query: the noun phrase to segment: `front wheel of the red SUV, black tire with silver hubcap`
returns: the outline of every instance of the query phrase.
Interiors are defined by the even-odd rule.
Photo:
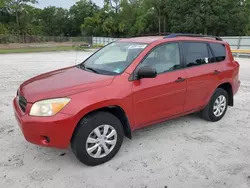
[[[107,126],[109,126],[109,129],[106,129]],[[104,138],[104,129],[107,130],[105,134],[107,137],[110,137],[110,135],[113,134],[114,136]],[[99,137],[94,130],[97,130],[96,132],[99,130],[99,133],[101,133],[99,134]],[[87,117],[84,117],[79,122],[71,139],[71,148],[79,161],[88,166],[96,166],[109,161],[117,154],[122,145],[123,137],[123,127],[120,120],[116,116],[104,111],[95,112]],[[107,144],[107,142],[111,143],[111,141],[113,145]],[[104,144],[106,147],[104,147]],[[91,148],[96,149],[92,151]],[[108,148],[110,153],[105,153],[105,151],[108,150],[104,150],[104,148]],[[88,153],[88,151],[92,152]]]

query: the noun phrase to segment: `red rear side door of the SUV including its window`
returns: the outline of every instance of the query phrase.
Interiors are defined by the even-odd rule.
[[[182,49],[187,75],[187,97],[184,111],[207,105],[220,82],[222,66],[215,63],[211,47],[206,42],[183,42]]]

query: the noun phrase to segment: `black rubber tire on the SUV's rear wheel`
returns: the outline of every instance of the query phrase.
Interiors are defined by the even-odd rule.
[[[221,96],[225,97],[225,108],[223,112],[219,111],[219,113],[215,115],[216,113],[214,112],[214,105],[217,104],[216,100]],[[228,107],[228,93],[222,88],[217,88],[212,98],[210,99],[209,104],[202,110],[201,115],[207,121],[216,122],[223,118],[223,116],[225,115],[227,111],[227,107]]]

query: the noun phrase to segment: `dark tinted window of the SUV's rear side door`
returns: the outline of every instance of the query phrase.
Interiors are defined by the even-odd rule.
[[[183,50],[187,67],[209,63],[210,55],[206,43],[185,42]]]

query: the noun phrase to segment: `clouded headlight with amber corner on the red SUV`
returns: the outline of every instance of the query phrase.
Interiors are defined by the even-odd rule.
[[[32,105],[31,116],[53,116],[60,112],[68,103],[69,98],[57,98],[38,101]]]

